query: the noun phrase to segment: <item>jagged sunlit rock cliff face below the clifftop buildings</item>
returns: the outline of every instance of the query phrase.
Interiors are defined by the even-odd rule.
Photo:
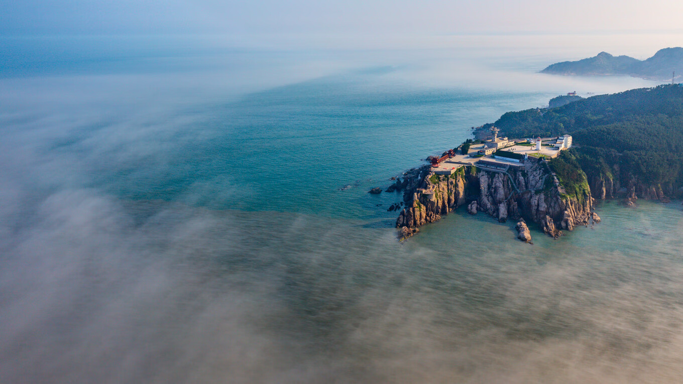
[[[561,230],[587,225],[592,215],[590,191],[567,195],[548,165],[533,158],[523,168],[510,167],[506,173],[471,166],[440,176],[427,167],[408,184],[415,188],[404,191],[406,206],[396,220],[397,228],[438,221],[441,215],[468,204],[471,213],[479,210],[501,222],[524,218],[557,237]]]

